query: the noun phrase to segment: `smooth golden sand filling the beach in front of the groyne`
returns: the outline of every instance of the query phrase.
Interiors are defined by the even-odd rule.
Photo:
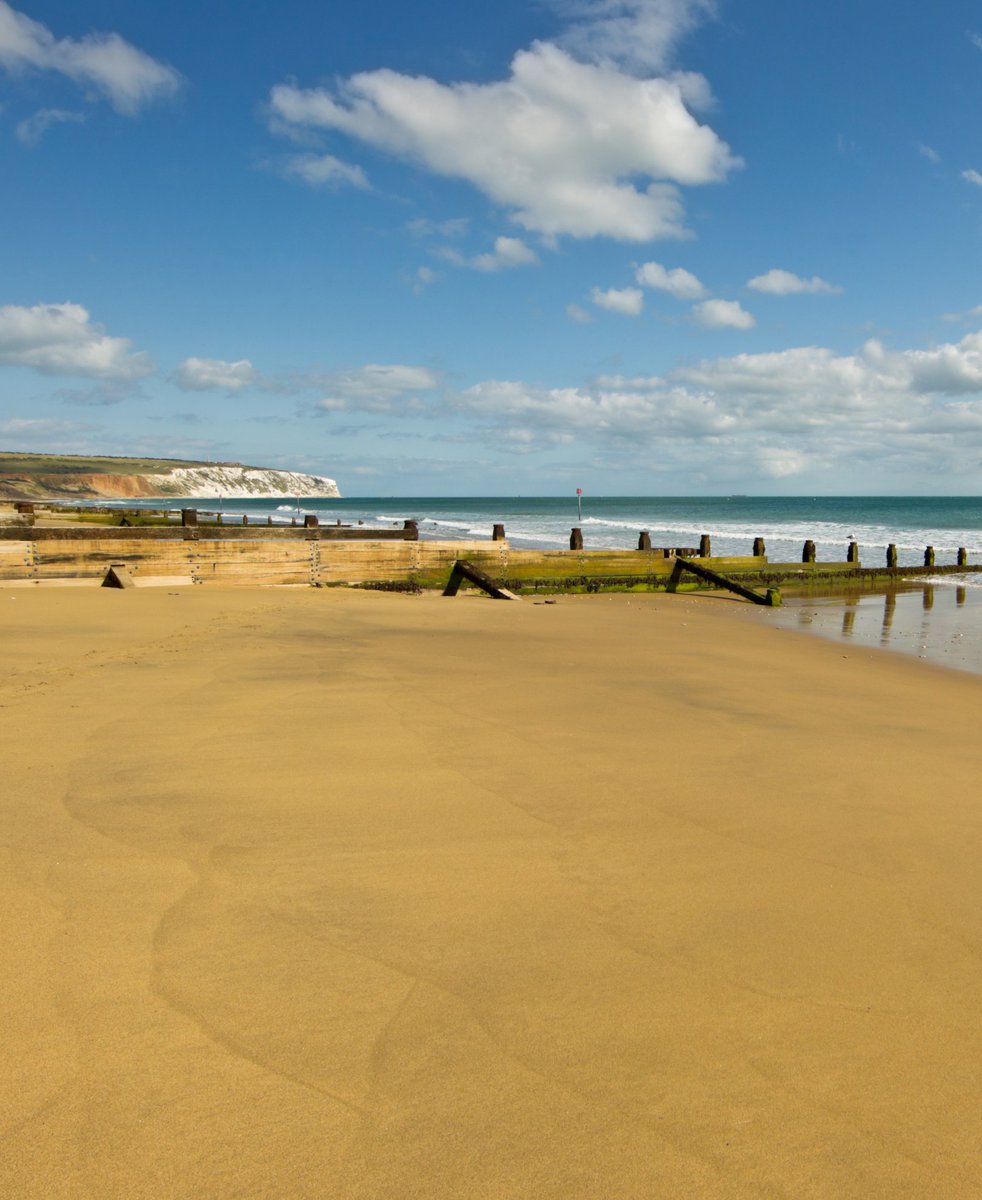
[[[682,595],[0,636],[0,1195],[982,1195],[982,679]]]

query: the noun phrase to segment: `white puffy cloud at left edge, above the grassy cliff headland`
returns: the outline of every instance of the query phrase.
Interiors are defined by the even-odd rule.
[[[132,353],[126,337],[109,337],[77,304],[0,307],[0,362],[31,367],[42,374],[134,380],[154,365]]]

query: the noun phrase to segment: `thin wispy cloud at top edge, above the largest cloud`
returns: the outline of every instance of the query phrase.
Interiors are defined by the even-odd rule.
[[[712,0],[559,0],[580,19],[561,38],[579,58],[661,71],[676,43],[715,11]]]

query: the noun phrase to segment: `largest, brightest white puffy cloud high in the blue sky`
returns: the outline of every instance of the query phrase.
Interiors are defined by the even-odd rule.
[[[687,108],[693,91],[691,77],[636,79],[537,42],[499,83],[370,71],[336,94],[280,84],[270,116],[274,130],[335,130],[467,180],[546,238],[647,241],[684,235],[678,185],[740,164]]]

